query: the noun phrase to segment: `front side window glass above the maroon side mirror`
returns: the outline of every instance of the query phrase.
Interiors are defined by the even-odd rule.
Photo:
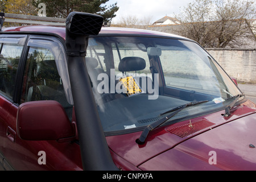
[[[21,103],[54,100],[59,102],[72,118],[73,105],[65,97],[63,80],[56,67],[56,56],[51,49],[30,47],[24,68]]]

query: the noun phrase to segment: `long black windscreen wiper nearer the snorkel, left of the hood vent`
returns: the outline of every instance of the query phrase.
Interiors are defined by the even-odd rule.
[[[164,115],[167,113],[171,113],[169,115],[167,115],[166,117],[159,119],[158,121],[148,125],[141,134],[141,137],[139,137],[136,142],[138,144],[143,144],[147,138],[147,135],[150,133],[150,131],[154,130],[156,127],[162,125],[164,122],[168,121],[170,118],[174,117],[177,113],[179,113],[181,110],[185,109],[188,106],[194,106],[194,105],[198,105],[204,102],[208,102],[208,101],[198,101],[198,102],[189,102],[187,104],[175,107],[174,109],[168,110],[164,113],[161,113],[160,115]],[[172,113],[173,112],[173,113]]]

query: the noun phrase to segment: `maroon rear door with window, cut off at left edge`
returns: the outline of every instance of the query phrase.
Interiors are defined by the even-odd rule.
[[[26,35],[0,35],[0,164],[5,169],[13,169],[5,154],[9,146],[15,145],[16,77],[26,38]]]

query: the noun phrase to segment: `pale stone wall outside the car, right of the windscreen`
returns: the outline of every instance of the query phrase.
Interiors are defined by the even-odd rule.
[[[229,76],[256,84],[256,49],[205,48]]]

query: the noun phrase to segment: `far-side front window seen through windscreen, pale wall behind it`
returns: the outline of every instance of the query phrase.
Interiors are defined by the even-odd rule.
[[[176,47],[159,46],[166,86],[191,89],[200,92],[219,92],[213,84],[214,72],[195,52]],[[209,61],[208,61],[209,62]]]

